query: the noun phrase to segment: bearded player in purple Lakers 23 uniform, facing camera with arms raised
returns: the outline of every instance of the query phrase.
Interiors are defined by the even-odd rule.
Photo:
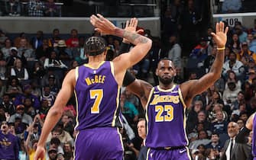
[[[170,59],[161,59],[158,62],[156,75],[159,85],[156,87],[135,80],[131,75],[125,75],[127,88],[141,99],[146,110],[148,159],[191,159],[186,147],[186,106],[190,106],[196,94],[206,91],[220,78],[224,62],[228,27],[224,28],[224,23],[220,22],[215,28],[216,32],[212,33],[212,37],[218,46],[218,53],[210,72],[202,78],[175,85],[173,78],[176,71]]]

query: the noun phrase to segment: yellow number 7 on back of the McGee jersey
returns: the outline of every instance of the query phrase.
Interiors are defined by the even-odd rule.
[[[95,99],[94,104],[91,107],[91,114],[99,114],[99,104],[102,102],[103,90],[93,89],[89,91],[90,98]]]

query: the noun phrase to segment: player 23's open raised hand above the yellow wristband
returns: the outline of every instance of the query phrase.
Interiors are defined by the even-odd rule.
[[[225,30],[224,30],[224,27],[225,25],[222,21],[219,23],[216,23],[216,27],[215,27],[216,33],[211,33],[212,38],[217,44],[218,48],[224,48],[225,43],[227,42],[228,27],[225,27]]]

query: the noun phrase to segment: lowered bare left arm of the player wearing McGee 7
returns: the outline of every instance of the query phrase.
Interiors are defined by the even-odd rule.
[[[75,83],[76,75],[75,70],[73,69],[68,72],[64,78],[62,88],[60,89],[53,106],[50,108],[47,114],[40,139],[37,143],[37,151],[34,155],[34,159],[44,159],[44,146],[47,136],[49,135],[50,131],[53,130],[53,127],[56,125],[57,121],[60,120],[60,117],[63,114],[63,108],[66,106],[67,101],[69,101],[71,95],[73,94]]]

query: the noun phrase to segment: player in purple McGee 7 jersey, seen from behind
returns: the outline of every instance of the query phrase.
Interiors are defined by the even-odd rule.
[[[34,159],[44,158],[47,136],[60,119],[63,107],[74,90],[78,114],[76,130],[79,131],[75,141],[74,159],[123,158],[122,137],[116,127],[119,120],[119,88],[126,69],[139,62],[151,49],[151,40],[115,27],[100,14],[92,15],[90,22],[102,34],[123,37],[135,46],[129,53],[108,62],[104,61],[105,41],[101,37],[90,37],[86,40],[85,50],[89,55],[89,63],[76,67],[64,78],[62,88],[44,122]]]

